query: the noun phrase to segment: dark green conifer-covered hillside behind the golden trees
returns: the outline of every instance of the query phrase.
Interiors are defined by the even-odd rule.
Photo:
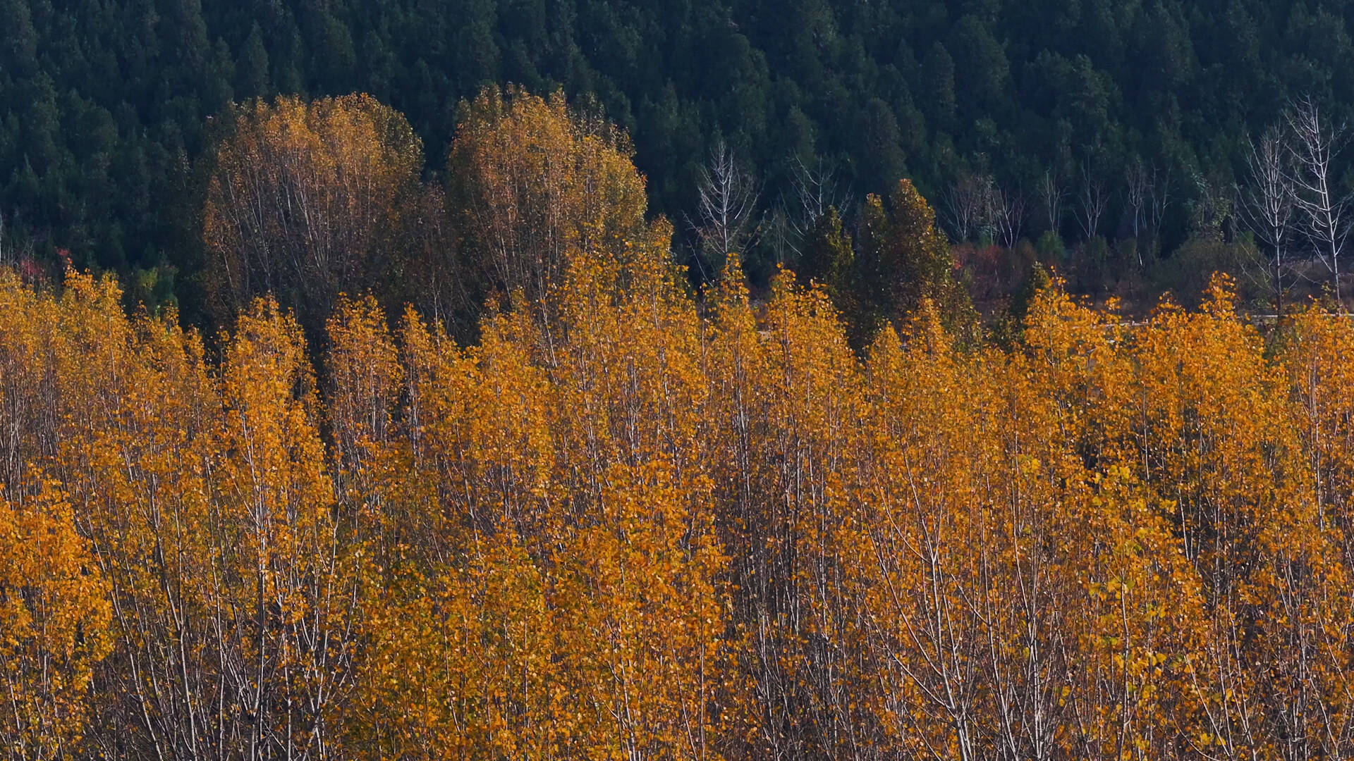
[[[1093,264],[1137,261],[1114,244],[1132,237],[1147,268],[1228,225],[1219,200],[1243,180],[1246,135],[1289,99],[1350,115],[1351,14],[1288,0],[0,0],[0,240],[118,269],[144,301],[179,292],[199,321],[200,199],[229,103],[367,92],[408,116],[421,171],[440,177],[463,99],[515,83],[590,99],[627,130],[684,251],[700,248],[685,222],[701,168],[727,145],[760,190],[758,283],[787,259],[791,221],[774,211],[798,203],[802,167],[834,175],[838,200],[910,176],[956,240],[1002,237],[961,209],[995,187],[1021,199],[1025,237],[1104,237]]]

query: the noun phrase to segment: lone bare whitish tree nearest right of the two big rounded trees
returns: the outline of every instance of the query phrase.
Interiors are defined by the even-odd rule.
[[[700,242],[705,261],[719,268],[730,253],[746,251],[757,233],[757,200],[761,188],[751,175],[738,165],[733,150],[723,141],[709,153],[709,162],[701,169],[696,219],[688,225]],[[697,264],[705,264],[697,257]],[[707,278],[715,272],[704,272]]]

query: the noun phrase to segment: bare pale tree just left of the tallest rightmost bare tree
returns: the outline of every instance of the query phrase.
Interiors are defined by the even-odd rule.
[[[1250,183],[1238,190],[1238,210],[1255,240],[1273,252],[1271,287],[1274,314],[1284,314],[1284,255],[1293,233],[1296,192],[1289,171],[1289,150],[1284,131],[1271,126],[1259,142],[1247,139],[1246,168]]]

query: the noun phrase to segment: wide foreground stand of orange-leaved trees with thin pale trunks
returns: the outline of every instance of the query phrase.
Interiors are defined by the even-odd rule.
[[[856,352],[788,272],[697,301],[642,194],[523,187],[551,161],[477,202],[474,345],[0,271],[7,757],[1354,753],[1349,320],[1055,282],[998,348],[933,286]]]

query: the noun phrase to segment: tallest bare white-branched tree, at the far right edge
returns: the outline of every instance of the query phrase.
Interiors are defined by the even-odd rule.
[[[1343,307],[1339,259],[1350,232],[1350,196],[1334,187],[1331,164],[1345,148],[1346,125],[1327,121],[1316,102],[1304,96],[1289,108],[1288,126],[1293,133],[1289,152],[1297,210],[1317,257],[1331,269],[1335,301]]]

